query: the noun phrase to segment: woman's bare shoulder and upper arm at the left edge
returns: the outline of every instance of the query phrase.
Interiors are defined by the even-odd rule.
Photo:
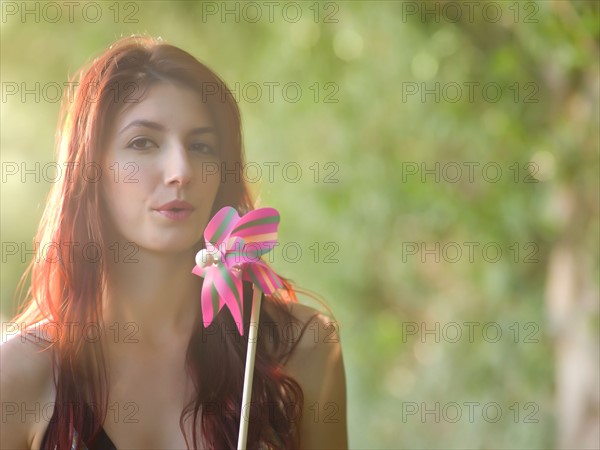
[[[0,345],[1,449],[32,448],[45,430],[42,411],[54,401],[51,358],[48,345],[33,336],[15,334]]]

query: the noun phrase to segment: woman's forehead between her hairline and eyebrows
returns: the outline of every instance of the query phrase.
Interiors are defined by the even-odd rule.
[[[145,92],[138,88],[131,99],[134,101],[117,113],[114,123],[118,129],[113,131],[118,132],[127,123],[138,119],[158,122],[174,130],[214,126],[210,110],[200,94],[187,87],[155,83]]]

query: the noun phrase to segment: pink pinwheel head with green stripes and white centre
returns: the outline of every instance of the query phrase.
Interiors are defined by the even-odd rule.
[[[205,327],[227,305],[240,335],[244,334],[242,280],[251,281],[265,294],[283,287],[277,274],[260,259],[277,244],[278,225],[279,213],[274,208],[255,209],[240,217],[226,206],[210,220],[204,230],[206,248],[198,252],[192,269],[204,278]]]

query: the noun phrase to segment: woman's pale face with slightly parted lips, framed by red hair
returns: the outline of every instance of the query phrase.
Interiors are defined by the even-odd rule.
[[[159,252],[197,244],[220,177],[215,124],[200,96],[152,85],[142,101],[116,116],[106,142],[102,195],[114,238]]]

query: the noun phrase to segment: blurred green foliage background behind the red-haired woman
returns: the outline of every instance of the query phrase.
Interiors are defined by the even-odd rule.
[[[493,2],[502,12],[497,22],[481,6],[473,20],[464,9],[453,20],[445,2],[426,2],[440,13],[423,20],[407,13],[407,3],[425,8],[303,2],[296,23],[284,20],[280,7],[272,21],[218,15],[203,21],[206,5],[177,1],[135,3],[137,23],[123,23],[123,15],[115,22],[114,2],[101,2],[96,23],[81,14],[72,23],[3,16],[2,82],[62,84],[116,38],[145,32],[189,51],[231,87],[258,83],[258,101],[248,101],[251,90],[240,100],[248,161],[264,169],[253,187],[262,205],[281,211],[281,242],[297,242],[303,251],[297,262],[291,250],[287,258],[276,252],[276,269],[321,294],[339,321],[351,447],[553,447],[555,363],[545,285],[557,241],[570,237],[587,250],[581,269],[595,274],[594,292],[598,287],[598,3]],[[128,2],[117,9],[133,11]],[[327,12],[335,22],[324,23]],[[270,102],[265,82],[299,83],[302,96],[285,101],[276,88]],[[469,82],[480,83],[472,101]],[[428,94],[422,101],[421,92],[406,95],[415,86],[407,83],[428,89],[456,83],[463,95],[449,100],[455,91],[448,87],[446,97]],[[501,87],[497,101],[482,94],[486,83]],[[493,89],[488,93],[495,97]],[[328,94],[337,102],[325,102]],[[1,106],[2,162],[52,161],[59,104],[17,95]],[[270,182],[265,162],[296,162],[302,176],[288,182],[276,170]],[[310,169],[315,162],[319,173]],[[423,182],[421,173],[407,173],[422,163],[448,167],[446,176],[436,182],[426,175]],[[448,163],[463,170],[457,182],[447,180],[455,173]],[[473,181],[465,163],[479,164]],[[497,182],[484,178],[487,163],[501,167]],[[327,174],[335,182],[325,182]],[[31,177],[2,183],[3,242],[29,245],[49,188]],[[565,190],[575,200],[565,200]],[[578,205],[578,227],[561,212],[564,202]],[[463,254],[449,262],[448,248],[437,262],[433,255],[409,255],[411,242],[426,249],[456,242]],[[473,262],[465,242],[479,243]],[[488,243],[502,249],[497,262],[481,253]],[[3,257],[4,319],[14,312],[24,268],[19,258]],[[597,308],[589,318],[597,336]],[[472,340],[465,322],[480,324]],[[482,335],[487,322],[502,330],[498,342],[486,339],[494,329]],[[439,342],[434,334],[408,333],[412,324],[435,330],[436,323]],[[443,330],[454,336],[451,323],[463,331],[455,343],[443,339]],[[536,342],[525,342],[529,333]],[[458,403],[462,417],[453,423],[443,415],[436,422],[434,414],[422,420],[421,410],[402,414],[410,405],[433,409],[436,402],[440,408]],[[466,402],[480,405],[473,420]],[[482,415],[491,402],[502,409],[496,422]],[[445,411],[454,417],[455,410]],[[536,422],[526,422],[532,412]]]

